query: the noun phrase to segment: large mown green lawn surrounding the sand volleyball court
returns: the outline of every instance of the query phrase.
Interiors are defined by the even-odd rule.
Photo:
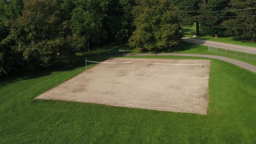
[[[1,80],[1,143],[256,143],[256,73],[211,59],[207,115],[34,99],[83,72],[83,65]]]

